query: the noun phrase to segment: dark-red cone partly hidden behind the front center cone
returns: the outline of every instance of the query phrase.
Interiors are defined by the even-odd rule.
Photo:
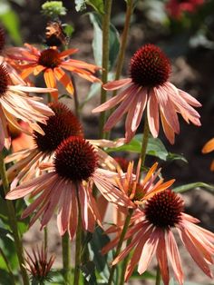
[[[34,141],[41,152],[50,154],[71,135],[83,136],[83,126],[73,112],[63,103],[49,103],[54,115],[46,124],[40,123],[44,135],[34,131]]]

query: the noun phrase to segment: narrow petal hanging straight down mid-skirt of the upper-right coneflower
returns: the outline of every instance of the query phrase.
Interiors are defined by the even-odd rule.
[[[147,118],[150,126],[151,134],[154,138],[159,135],[159,105],[154,94],[153,89],[149,95],[148,105],[147,105]]]

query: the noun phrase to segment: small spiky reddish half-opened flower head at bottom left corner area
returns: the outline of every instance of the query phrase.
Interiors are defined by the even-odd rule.
[[[55,260],[54,255],[52,255],[49,259],[47,257],[47,251],[44,250],[44,246],[39,249],[37,246],[32,250],[32,255],[29,252],[26,253],[26,269],[31,274],[31,279],[34,282],[39,282],[39,284],[45,284],[45,281],[51,281],[51,268],[53,266],[53,262]]]

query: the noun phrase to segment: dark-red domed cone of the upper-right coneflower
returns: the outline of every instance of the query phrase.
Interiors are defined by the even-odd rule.
[[[170,76],[170,60],[158,46],[146,44],[131,57],[130,74],[132,82],[142,87],[162,85]]]

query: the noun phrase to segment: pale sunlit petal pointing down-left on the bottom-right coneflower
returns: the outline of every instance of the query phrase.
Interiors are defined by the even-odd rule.
[[[147,270],[151,262],[151,258],[157,249],[159,236],[160,236],[159,231],[155,229],[151,233],[151,236],[145,242],[143,249],[141,251],[141,258],[139,260],[139,265],[138,265],[139,274],[142,274],[143,272],[145,272],[145,270]]]

